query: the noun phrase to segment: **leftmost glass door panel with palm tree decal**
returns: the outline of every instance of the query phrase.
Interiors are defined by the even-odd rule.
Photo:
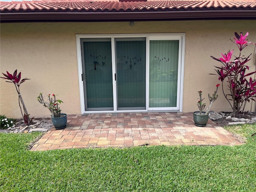
[[[113,109],[111,41],[98,39],[83,44],[87,109]]]

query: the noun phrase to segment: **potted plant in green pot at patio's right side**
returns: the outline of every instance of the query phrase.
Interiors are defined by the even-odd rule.
[[[203,110],[204,110],[206,104],[203,103],[204,98],[202,98],[202,91],[198,91],[199,101],[197,102],[197,106],[199,108],[199,111],[195,111],[194,116],[193,116],[196,126],[200,126],[200,127],[206,126],[206,123],[208,122],[208,118],[209,118],[210,108],[211,108],[213,102],[218,98],[217,91],[218,91],[219,86],[220,86],[220,84],[216,85],[216,90],[214,91],[214,94],[212,94],[212,96],[210,96],[210,94],[208,94],[208,98],[210,100],[210,105],[206,108],[205,112]]]

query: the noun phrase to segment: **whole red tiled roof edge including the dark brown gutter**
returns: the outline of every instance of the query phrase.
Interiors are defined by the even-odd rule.
[[[53,15],[53,13],[55,14]],[[126,2],[119,2],[118,0],[33,0],[0,2],[1,22],[67,19],[110,21],[128,20],[129,18],[134,20],[168,20],[204,17],[256,18],[256,0],[137,0]]]

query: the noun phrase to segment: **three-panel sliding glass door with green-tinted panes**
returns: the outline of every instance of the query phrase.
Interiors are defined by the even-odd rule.
[[[84,111],[180,110],[182,37],[80,38]]]

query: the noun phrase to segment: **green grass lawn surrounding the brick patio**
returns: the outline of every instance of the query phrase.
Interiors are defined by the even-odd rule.
[[[228,129],[246,144],[32,152],[41,133],[1,133],[0,191],[254,192],[256,124]]]

